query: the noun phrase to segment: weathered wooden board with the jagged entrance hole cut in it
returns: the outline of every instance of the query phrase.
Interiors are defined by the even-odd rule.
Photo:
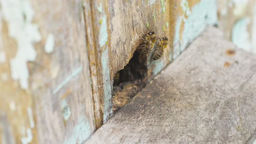
[[[89,36],[93,41],[90,46],[95,46],[89,48],[89,57],[95,113],[99,110],[102,115],[96,114],[98,128],[100,121],[112,115],[112,80],[128,64],[141,42],[139,36],[147,32],[146,27],[154,29],[158,37],[166,32],[169,38],[170,53],[148,65],[148,74],[154,77],[207,24],[217,23],[217,3],[214,0],[86,0],[85,22],[91,27],[87,35],[93,35],[93,38]]]

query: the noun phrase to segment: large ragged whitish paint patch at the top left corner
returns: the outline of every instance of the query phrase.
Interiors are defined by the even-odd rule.
[[[3,19],[7,22],[9,36],[16,40],[16,56],[10,60],[13,80],[19,80],[23,89],[29,87],[27,62],[35,61],[33,45],[41,41],[38,26],[34,23],[34,10],[28,0],[1,0]]]

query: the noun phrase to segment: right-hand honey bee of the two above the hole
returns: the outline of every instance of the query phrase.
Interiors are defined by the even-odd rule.
[[[156,49],[153,50],[155,51],[153,55],[154,60],[158,60],[161,58],[165,49],[167,49],[167,42],[168,42],[168,38],[165,36],[165,32],[164,32],[164,36],[157,39]],[[167,49],[167,53],[169,53],[168,49]]]

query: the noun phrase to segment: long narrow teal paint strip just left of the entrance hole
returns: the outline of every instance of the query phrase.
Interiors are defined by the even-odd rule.
[[[103,122],[112,115],[111,90],[112,81],[110,80],[109,62],[108,62],[108,48],[102,53],[102,74],[103,74],[103,88],[104,88],[104,115]]]

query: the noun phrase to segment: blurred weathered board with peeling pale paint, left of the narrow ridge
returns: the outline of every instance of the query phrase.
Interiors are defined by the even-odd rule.
[[[95,131],[82,2],[0,2],[1,142],[82,143]]]

